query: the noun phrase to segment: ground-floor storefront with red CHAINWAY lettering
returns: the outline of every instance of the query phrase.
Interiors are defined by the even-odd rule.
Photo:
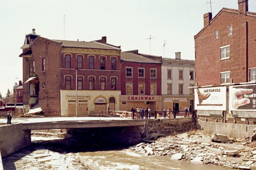
[[[161,111],[161,96],[120,95],[120,110],[131,111],[132,108],[150,108],[151,111]]]

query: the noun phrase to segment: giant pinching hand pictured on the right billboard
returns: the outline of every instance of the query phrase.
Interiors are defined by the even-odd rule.
[[[245,104],[250,103],[250,99],[243,98],[244,94],[250,94],[253,92],[253,89],[237,89],[232,88],[231,90],[231,100],[232,106],[234,109],[237,109],[239,106],[244,106]]]

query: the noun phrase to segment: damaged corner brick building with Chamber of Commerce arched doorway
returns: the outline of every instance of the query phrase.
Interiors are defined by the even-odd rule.
[[[85,116],[88,110],[119,109],[121,49],[106,37],[50,40],[33,29],[21,49],[26,111],[41,107],[46,115]]]

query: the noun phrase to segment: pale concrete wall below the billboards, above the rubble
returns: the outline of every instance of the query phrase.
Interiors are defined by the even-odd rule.
[[[253,133],[256,125],[245,125],[236,123],[220,123],[220,122],[205,122],[197,119],[197,129],[201,129],[210,134],[220,133],[230,137],[247,138]]]

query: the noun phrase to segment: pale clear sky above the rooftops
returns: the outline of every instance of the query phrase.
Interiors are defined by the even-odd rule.
[[[211,0],[213,16],[221,8],[238,9],[237,0]],[[0,0],[0,92],[6,95],[15,81],[22,80],[19,54],[25,34],[49,39],[92,41],[107,36],[107,42],[122,51],[138,49],[165,57],[194,60],[193,36],[203,28],[203,14],[210,12],[210,0]],[[249,0],[256,12],[256,0]],[[18,79],[16,79],[18,78]]]

